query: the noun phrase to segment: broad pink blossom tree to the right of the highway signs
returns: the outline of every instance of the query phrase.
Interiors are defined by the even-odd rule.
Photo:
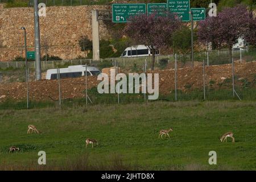
[[[228,46],[230,62],[232,47],[238,38],[244,38],[251,22],[250,13],[246,6],[238,5],[222,10],[216,17],[208,17],[199,22],[197,36],[200,42],[212,43],[218,49]]]

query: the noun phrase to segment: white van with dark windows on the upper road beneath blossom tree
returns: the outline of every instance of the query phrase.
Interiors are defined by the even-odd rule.
[[[150,56],[152,55],[150,49],[148,49],[144,45],[131,46],[127,47],[125,51],[123,51],[120,57],[142,57],[142,56]],[[159,55],[159,50],[156,49],[155,55]]]

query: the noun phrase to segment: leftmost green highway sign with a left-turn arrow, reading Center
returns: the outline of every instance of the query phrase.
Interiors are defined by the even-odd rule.
[[[113,4],[112,22],[125,23],[131,16],[146,14],[146,4]]]

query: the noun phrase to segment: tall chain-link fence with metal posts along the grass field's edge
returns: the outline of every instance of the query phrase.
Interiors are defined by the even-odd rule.
[[[1,69],[0,73],[0,109],[22,109],[45,106],[65,106],[65,105],[92,105],[92,104],[129,104],[147,103],[155,100],[148,100],[149,86],[159,88],[157,100],[168,102],[184,100],[256,100],[256,62],[255,55],[243,52],[242,57],[252,57],[251,61],[241,59],[241,55],[233,52],[233,64],[227,56],[218,56],[217,51],[200,53],[195,59],[192,68],[189,55],[167,55],[156,56],[155,69],[151,71],[150,57],[132,57],[95,60],[69,60],[69,61],[47,61],[42,62],[42,81],[35,81],[34,62],[28,64],[28,71],[23,63],[9,63],[9,67]],[[216,61],[213,60],[213,57]],[[225,59],[224,59],[225,57]],[[209,59],[209,61],[208,61]],[[246,58],[247,59],[247,58]],[[221,63],[221,64],[220,64]],[[227,64],[224,64],[227,63]],[[4,63],[6,64],[6,63]],[[80,75],[74,78],[65,78],[57,72],[55,80],[45,80],[46,71],[49,68],[66,68],[69,65],[81,65],[84,67],[97,67],[108,75],[109,85],[106,86],[109,93],[99,93],[98,84],[102,80],[97,80],[97,76]],[[234,66],[233,66],[234,65]],[[111,75],[110,68],[114,69],[114,76]],[[146,68],[146,69],[145,69]],[[59,71],[59,69],[57,69]],[[87,73],[87,72],[86,72]],[[129,84],[117,82],[117,73],[124,73],[127,82],[129,73],[138,73],[139,92],[135,92],[134,87],[129,93]],[[148,81],[150,75],[159,75],[158,85],[152,82],[143,82],[143,78]],[[26,77],[28,75],[28,78]],[[114,79],[114,80],[113,80]],[[122,80],[122,79],[120,79]],[[111,88],[110,83],[114,83]],[[126,86],[125,86],[126,85]],[[104,86],[105,87],[105,86]],[[127,93],[118,93],[125,89]],[[110,93],[111,90],[114,92]],[[146,92],[143,92],[146,90]],[[153,89],[154,90],[154,89]]]

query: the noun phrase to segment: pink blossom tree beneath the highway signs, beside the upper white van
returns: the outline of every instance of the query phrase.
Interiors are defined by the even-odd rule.
[[[151,70],[154,70],[156,49],[166,48],[172,42],[172,34],[181,25],[175,16],[166,13],[166,16],[156,14],[141,14],[129,19],[124,33],[135,43],[144,44],[152,53]]]

